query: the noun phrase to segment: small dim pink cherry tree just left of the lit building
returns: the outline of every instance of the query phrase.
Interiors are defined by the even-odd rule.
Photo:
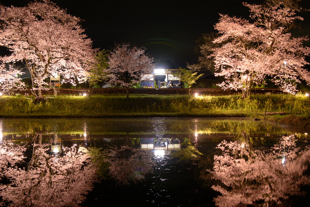
[[[108,61],[111,73],[110,83],[124,87],[127,94],[126,98],[129,97],[130,88],[136,83],[149,80],[143,74],[151,74],[155,68],[153,58],[144,53],[144,48],[119,44],[110,54]]]

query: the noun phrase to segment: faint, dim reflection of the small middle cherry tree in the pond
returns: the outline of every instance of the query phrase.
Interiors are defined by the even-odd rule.
[[[130,184],[145,179],[153,171],[153,160],[149,151],[132,146],[121,146],[106,151],[105,161],[110,164],[109,175],[119,184]]]

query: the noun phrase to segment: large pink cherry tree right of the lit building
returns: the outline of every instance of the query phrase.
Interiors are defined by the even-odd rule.
[[[296,82],[310,83],[310,74],[303,68],[308,62],[304,56],[310,49],[303,47],[307,37],[293,37],[289,31],[298,20],[298,1],[268,0],[263,5],[243,3],[250,9],[251,21],[221,15],[215,29],[221,34],[214,49],[215,76],[224,76],[226,81],[219,86],[224,89],[241,89],[245,98],[250,95],[253,84],[262,83],[271,77],[284,91],[294,94]]]

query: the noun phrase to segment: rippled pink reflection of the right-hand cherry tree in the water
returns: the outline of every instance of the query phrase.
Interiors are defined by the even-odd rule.
[[[215,155],[213,171],[208,170],[222,182],[212,186],[222,194],[215,198],[215,204],[285,206],[289,198],[304,196],[301,187],[310,184],[303,176],[310,151],[299,152],[293,135],[283,137],[280,143],[269,151],[250,151],[240,142],[219,144],[224,155]]]

